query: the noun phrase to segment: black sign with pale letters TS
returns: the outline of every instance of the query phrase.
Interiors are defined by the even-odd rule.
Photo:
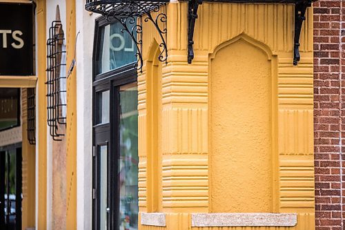
[[[34,75],[33,15],[32,4],[0,3],[0,75]]]

